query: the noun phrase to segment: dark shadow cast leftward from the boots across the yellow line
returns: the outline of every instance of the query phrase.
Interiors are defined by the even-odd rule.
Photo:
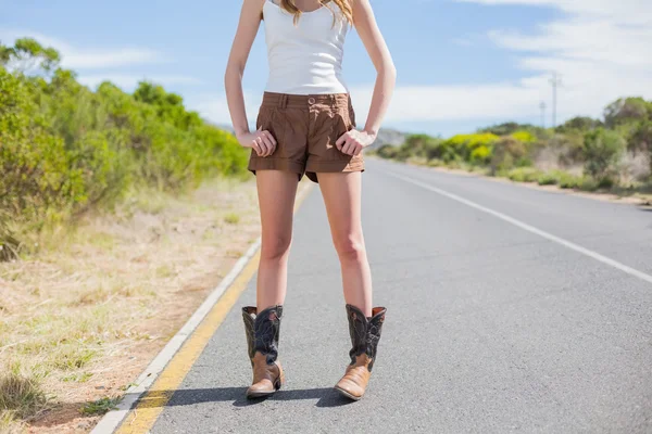
[[[138,406],[140,408],[161,407],[161,404],[170,397],[165,407],[191,406],[201,403],[233,401],[236,407],[254,406],[265,400],[302,400],[318,399],[316,407],[340,407],[353,403],[338,394],[331,387],[305,388],[305,390],[280,390],[266,398],[247,399],[244,392],[247,387],[214,387],[214,388],[185,388],[179,391],[152,391],[143,397]]]

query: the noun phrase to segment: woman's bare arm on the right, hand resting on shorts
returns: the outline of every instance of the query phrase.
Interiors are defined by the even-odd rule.
[[[397,81],[397,69],[385,39],[378,29],[374,11],[369,0],[351,0],[353,5],[353,25],[360,35],[360,39],[366,48],[377,77],[374,86],[374,95],[369,114],[363,131],[349,131],[337,142],[337,148],[346,154],[358,155],[363,148],[368,146],[376,140],[383,117],[389,106],[391,94]]]

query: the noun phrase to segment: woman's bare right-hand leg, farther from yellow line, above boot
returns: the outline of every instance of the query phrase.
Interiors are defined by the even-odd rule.
[[[328,213],[330,233],[338,253],[344,301],[372,316],[372,273],[361,221],[362,173],[318,174]]]

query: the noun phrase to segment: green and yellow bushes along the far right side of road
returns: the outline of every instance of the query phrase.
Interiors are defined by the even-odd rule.
[[[604,108],[602,119],[575,117],[556,128],[506,123],[449,139],[412,135],[376,153],[517,182],[647,193],[652,192],[652,102],[619,99]]]

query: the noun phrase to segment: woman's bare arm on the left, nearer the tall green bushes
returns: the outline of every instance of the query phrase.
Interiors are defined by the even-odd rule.
[[[276,140],[269,131],[249,131],[249,122],[244,110],[244,94],[242,92],[242,75],[251,52],[251,46],[261,25],[264,1],[244,0],[240,11],[238,30],[234,38],[224,75],[226,101],[236,137],[242,146],[253,148],[259,156],[271,155],[276,148]]]

